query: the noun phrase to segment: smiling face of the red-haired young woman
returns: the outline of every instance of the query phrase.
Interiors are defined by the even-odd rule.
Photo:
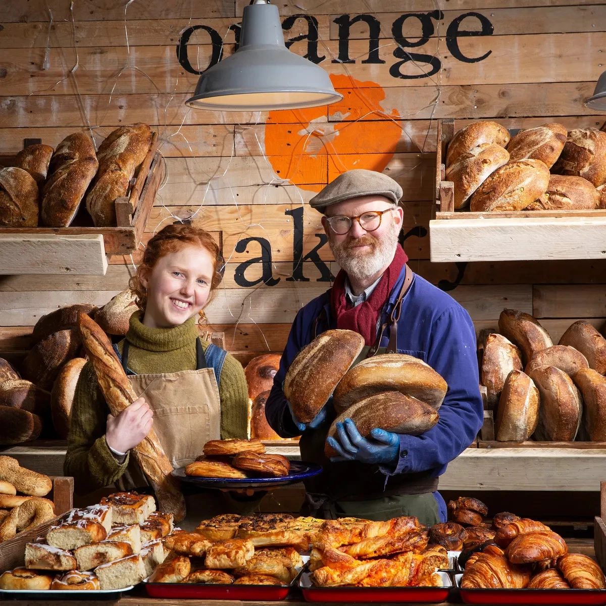
[[[195,316],[208,301],[213,273],[213,258],[205,248],[187,245],[162,256],[141,277],[147,289],[143,324],[170,328]]]

